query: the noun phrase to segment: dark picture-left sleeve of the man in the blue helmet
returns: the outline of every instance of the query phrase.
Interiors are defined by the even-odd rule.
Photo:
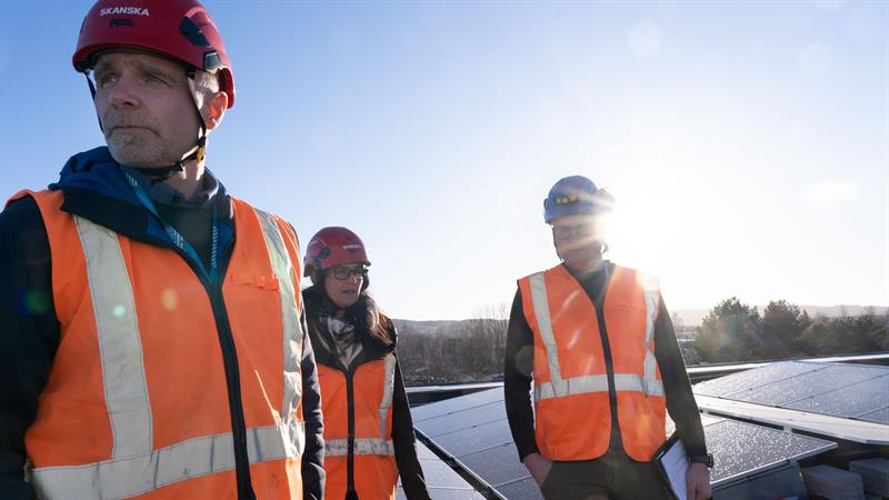
[[[503,357],[503,401],[507,407],[509,429],[519,452],[519,460],[537,453],[535,413],[531,407],[531,370],[535,363],[535,337],[525,319],[521,291],[516,290],[507,327],[507,346]]]

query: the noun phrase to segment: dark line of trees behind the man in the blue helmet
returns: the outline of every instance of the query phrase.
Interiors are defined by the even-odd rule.
[[[400,327],[398,356],[406,383],[499,380],[508,308],[488,307],[477,316],[449,332],[422,334]],[[769,302],[760,314],[757,307],[732,297],[710,309],[701,326],[695,328],[690,347],[683,349],[687,363],[887,351],[889,311],[810,317],[798,306],[778,300]]]

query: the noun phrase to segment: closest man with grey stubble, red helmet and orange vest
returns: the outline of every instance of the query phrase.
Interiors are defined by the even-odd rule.
[[[210,13],[100,0],[72,62],[107,147],[0,213],[0,498],[321,500],[296,232],[204,161]]]

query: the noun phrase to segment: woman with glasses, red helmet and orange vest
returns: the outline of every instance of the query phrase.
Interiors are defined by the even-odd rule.
[[[396,328],[368,293],[364,243],[346,228],[318,231],[303,290],[324,413],[329,500],[428,500],[396,353]]]

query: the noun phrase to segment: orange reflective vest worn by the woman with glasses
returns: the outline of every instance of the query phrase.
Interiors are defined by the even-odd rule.
[[[398,466],[392,444],[392,353],[360,364],[350,381],[342,370],[318,364],[321,412],[324,416],[324,497],[342,500],[349,487],[352,456],[353,488],[361,500],[396,498]],[[353,411],[354,443],[349,448],[349,411]]]

